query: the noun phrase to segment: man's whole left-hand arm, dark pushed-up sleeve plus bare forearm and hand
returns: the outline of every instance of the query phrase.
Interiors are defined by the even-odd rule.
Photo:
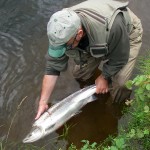
[[[61,71],[65,71],[68,66],[68,56],[63,55],[59,58],[54,58],[46,54],[46,68],[42,83],[42,92],[39,101],[39,108],[35,119],[38,119],[41,114],[48,109],[48,99],[50,98],[57,78]]]

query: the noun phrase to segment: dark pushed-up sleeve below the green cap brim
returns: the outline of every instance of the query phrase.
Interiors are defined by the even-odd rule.
[[[46,58],[46,75],[60,75],[60,72],[65,71],[68,67],[68,56],[63,55],[59,58],[51,57],[48,53]]]

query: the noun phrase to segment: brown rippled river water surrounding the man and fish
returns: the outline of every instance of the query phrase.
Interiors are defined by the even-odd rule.
[[[29,132],[37,111],[44,74],[44,56],[48,47],[47,22],[54,12],[79,2],[81,0],[0,1],[1,139],[21,142]],[[143,55],[150,47],[150,2],[132,0],[129,7],[143,24],[144,36],[140,52]],[[51,97],[52,103],[80,89],[71,74],[72,63],[71,61],[68,70],[60,76]],[[108,96],[100,96],[98,101],[88,104],[82,113],[68,121],[67,126],[71,127],[67,139],[58,138],[63,134],[62,127],[34,145],[45,146],[48,150],[60,147],[65,150],[71,143],[80,147],[83,139],[99,142],[109,134],[116,134],[121,110],[119,106],[107,103],[108,99]],[[17,109],[21,101],[23,102]]]

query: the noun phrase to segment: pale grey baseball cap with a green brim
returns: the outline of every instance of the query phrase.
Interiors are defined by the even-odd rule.
[[[81,26],[80,17],[70,9],[54,13],[47,24],[50,56],[61,57],[66,50],[66,43]]]

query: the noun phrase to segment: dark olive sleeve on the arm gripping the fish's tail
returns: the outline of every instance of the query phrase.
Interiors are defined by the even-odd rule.
[[[103,65],[102,74],[110,79],[127,64],[130,51],[129,35],[122,14],[118,14],[112,25],[108,40],[108,61]]]

